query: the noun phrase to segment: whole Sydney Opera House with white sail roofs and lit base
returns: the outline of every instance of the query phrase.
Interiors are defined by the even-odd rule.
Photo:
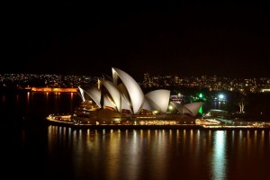
[[[77,90],[82,103],[71,121],[87,124],[173,125],[191,124],[202,102],[170,101],[170,91],[157,89],[144,94],[126,72],[112,67],[112,77],[98,79],[96,86]]]

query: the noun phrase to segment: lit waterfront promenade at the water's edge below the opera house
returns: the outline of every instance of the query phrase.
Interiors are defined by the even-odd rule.
[[[178,120],[178,123],[169,124],[169,122],[156,120],[157,124],[148,124],[148,125],[137,125],[133,120],[132,124],[113,124],[112,122],[109,124],[99,124],[94,125],[84,122],[80,123],[72,120],[72,116],[69,114],[61,114],[61,115],[53,115],[49,114],[46,117],[46,120],[49,124],[54,124],[58,126],[66,126],[75,129],[133,129],[133,130],[148,130],[148,129],[169,129],[169,130],[184,130],[184,129],[193,129],[193,130],[270,130],[270,122],[268,121],[252,121],[243,123],[238,122],[228,122],[224,123],[218,120],[207,120],[207,119],[196,119],[192,117],[188,117],[191,119],[188,123],[183,123],[183,121]],[[158,123],[158,121],[162,121],[163,123]],[[214,121],[214,124],[209,123],[209,121]]]

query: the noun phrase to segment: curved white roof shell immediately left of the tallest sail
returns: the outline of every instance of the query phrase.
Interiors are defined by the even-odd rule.
[[[112,102],[114,103],[113,105],[116,106],[116,111],[121,112],[121,93],[117,89],[115,85],[113,85],[112,82],[104,80],[104,79],[99,79],[101,83],[104,85],[104,87],[108,90],[109,94],[112,96]],[[115,109],[115,107],[113,107]]]

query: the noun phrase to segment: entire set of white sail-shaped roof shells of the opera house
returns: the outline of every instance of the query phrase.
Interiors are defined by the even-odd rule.
[[[77,92],[84,102],[91,99],[100,108],[104,105],[112,107],[117,112],[121,112],[123,109],[130,110],[134,114],[139,112],[140,109],[167,111],[170,98],[169,90],[159,89],[144,95],[137,82],[121,69],[112,68],[112,77],[113,83],[105,79],[99,79],[101,85],[106,89],[105,94],[102,94],[101,89],[97,87],[85,89],[79,86]],[[121,79],[121,82],[117,82],[119,79]],[[195,102],[182,105],[171,102],[171,104],[175,106],[178,112],[189,113],[194,117],[203,103]]]

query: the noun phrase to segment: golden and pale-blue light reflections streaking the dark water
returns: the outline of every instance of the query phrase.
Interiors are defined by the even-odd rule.
[[[71,130],[48,127],[49,157],[91,179],[236,179],[269,175],[269,131]],[[256,158],[251,158],[256,157]],[[50,159],[53,163],[56,159]],[[262,167],[258,167],[262,166]],[[252,175],[247,175],[252,167]]]

